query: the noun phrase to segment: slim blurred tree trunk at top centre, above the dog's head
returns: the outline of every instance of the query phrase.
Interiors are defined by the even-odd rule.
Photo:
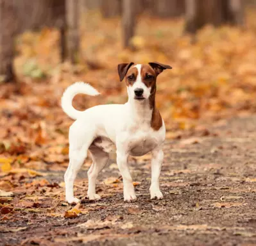
[[[133,8],[136,0],[123,0],[123,45],[128,47],[130,38],[135,31],[135,9]]]

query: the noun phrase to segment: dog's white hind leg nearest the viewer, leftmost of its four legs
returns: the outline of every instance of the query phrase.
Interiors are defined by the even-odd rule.
[[[94,138],[94,129],[81,127],[74,122],[69,129],[69,167],[65,172],[65,199],[69,203],[78,203],[74,197],[74,180],[87,157],[87,151]]]

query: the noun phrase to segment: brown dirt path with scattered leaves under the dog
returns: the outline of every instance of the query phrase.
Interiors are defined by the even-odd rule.
[[[229,120],[205,135],[166,142],[162,201],[149,199],[149,161],[131,160],[138,199],[124,203],[112,161],[100,176],[102,199],[85,199],[80,216],[64,218],[71,206],[51,207],[64,172],[49,172],[50,185],[34,192],[48,192],[42,203],[0,220],[0,245],[256,245],[256,117]],[[87,190],[82,178],[78,197]]]

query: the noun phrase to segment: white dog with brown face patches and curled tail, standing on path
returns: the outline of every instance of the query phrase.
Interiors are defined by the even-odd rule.
[[[162,199],[159,176],[164,159],[162,145],[166,127],[156,105],[157,76],[169,65],[150,62],[146,65],[121,63],[117,66],[120,81],[125,79],[128,102],[106,104],[78,111],[72,106],[76,94],[99,95],[87,83],[76,82],[62,95],[62,109],[76,120],[69,129],[69,167],[65,172],[65,199],[78,203],[74,197],[74,180],[89,150],[92,165],[88,171],[90,200],[100,199],[96,194],[96,179],[108,162],[110,152],[116,150],[117,166],[123,177],[124,201],[133,201],[136,195],[128,169],[128,156],[152,153],[151,199]]]

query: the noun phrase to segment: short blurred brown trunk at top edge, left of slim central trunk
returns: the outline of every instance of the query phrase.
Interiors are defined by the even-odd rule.
[[[102,0],[101,13],[103,17],[110,18],[121,15],[121,0]]]

